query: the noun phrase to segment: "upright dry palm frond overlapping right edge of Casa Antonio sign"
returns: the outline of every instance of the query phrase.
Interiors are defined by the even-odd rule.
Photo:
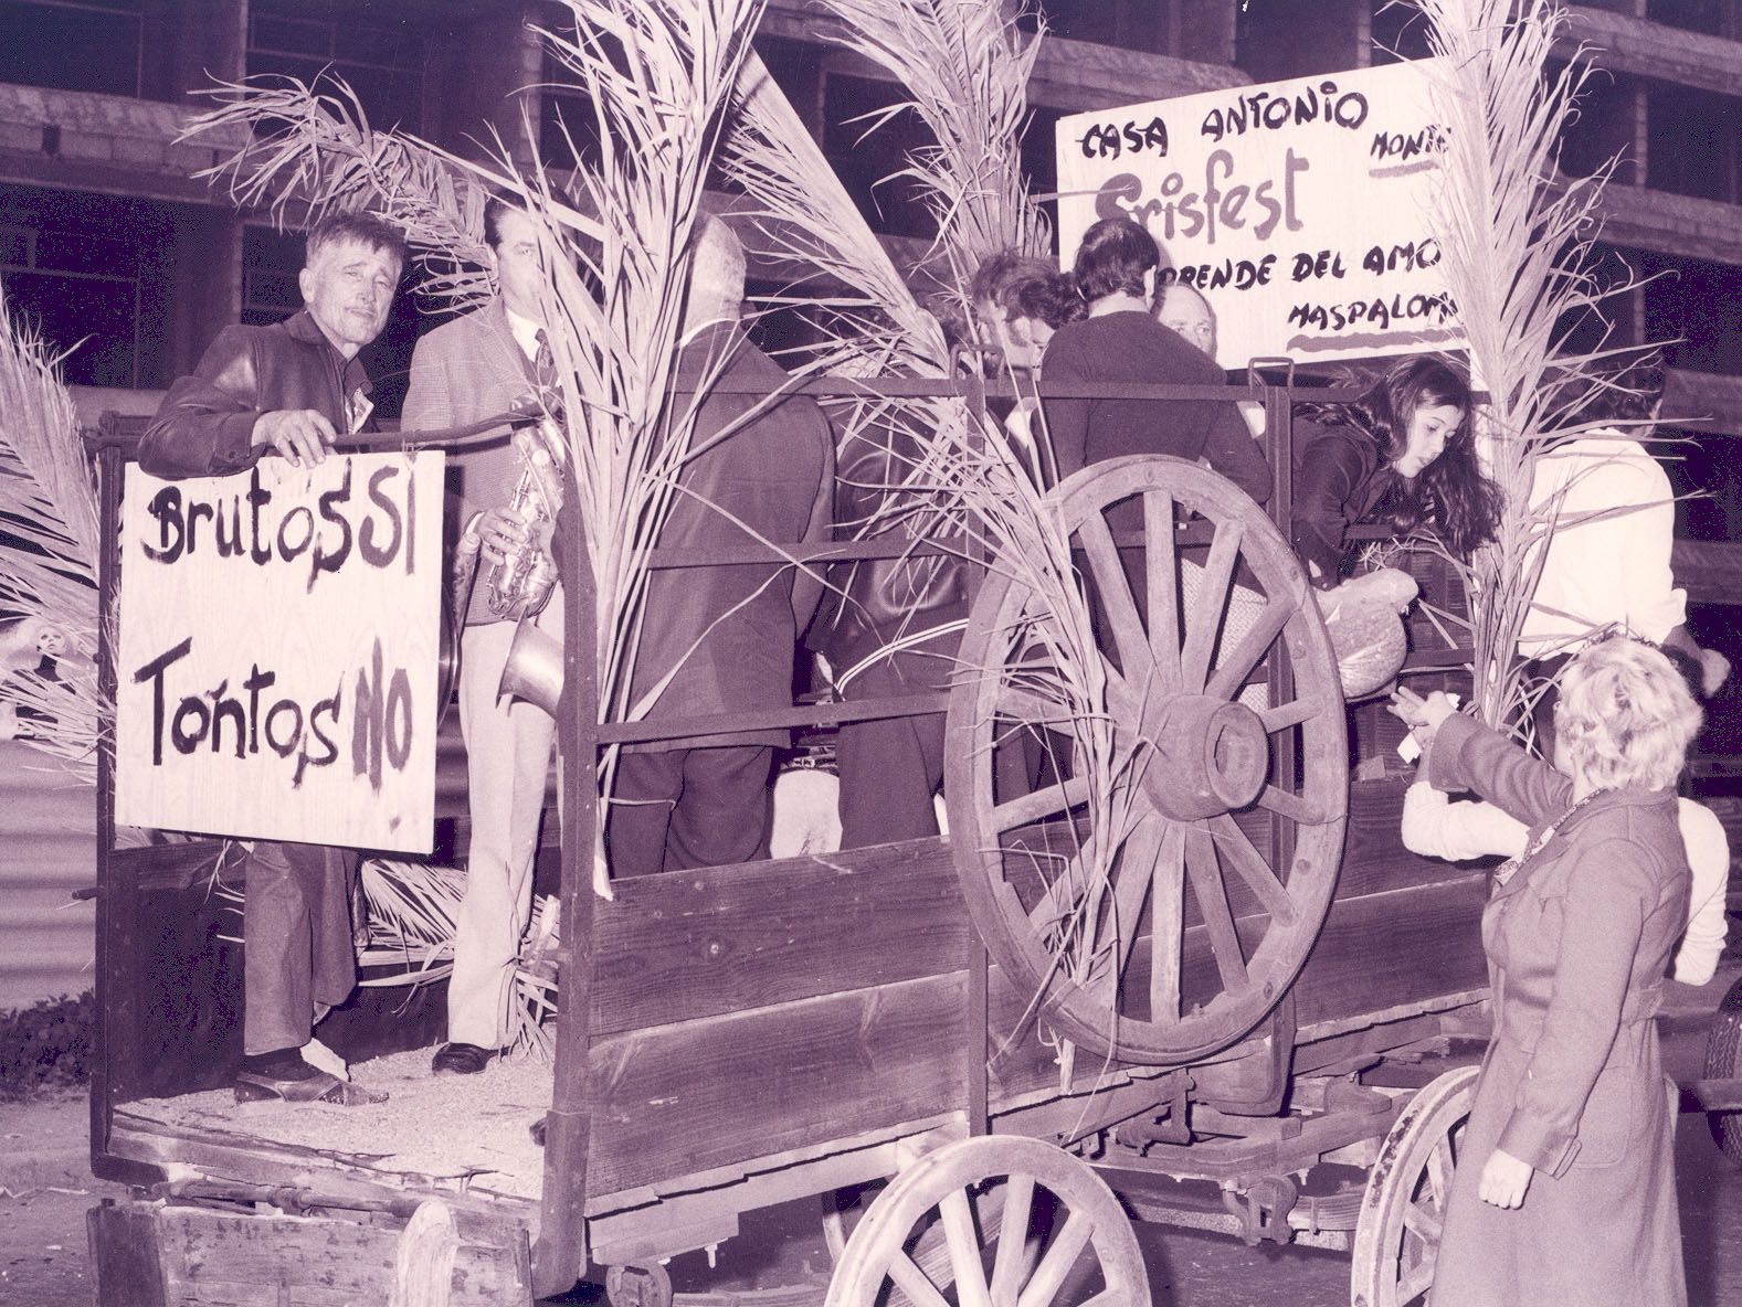
[[[1503,496],[1498,538],[1467,566],[1451,562],[1470,595],[1475,707],[1502,726],[1524,705],[1517,637],[1552,531],[1552,512],[1529,506],[1547,419],[1557,411],[1577,418],[1578,397],[1637,353],[1580,353],[1568,339],[1634,282],[1606,287],[1592,266],[1615,160],[1589,178],[1559,171],[1561,131],[1590,75],[1580,59],[1550,63],[1566,12],[1550,0],[1420,0],[1420,9],[1430,50],[1444,61],[1432,97],[1446,129],[1425,219],[1442,251],[1475,385],[1491,397],[1481,421]],[[1575,421],[1554,435],[1580,430]]]

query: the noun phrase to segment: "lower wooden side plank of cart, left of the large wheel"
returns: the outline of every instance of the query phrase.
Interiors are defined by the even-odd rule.
[[[587,1189],[962,1109],[965,1002],[967,976],[953,971],[598,1039]]]

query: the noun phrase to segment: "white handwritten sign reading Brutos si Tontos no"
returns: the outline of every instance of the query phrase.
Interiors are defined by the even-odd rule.
[[[115,820],[429,853],[442,454],[127,468]]]

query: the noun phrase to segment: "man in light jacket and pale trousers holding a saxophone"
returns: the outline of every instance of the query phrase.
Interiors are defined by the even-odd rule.
[[[503,412],[550,379],[538,376],[540,369],[549,372],[549,345],[540,308],[545,273],[533,219],[491,198],[484,205],[484,240],[495,256],[498,294],[418,341],[402,430],[458,426]],[[491,609],[484,569],[540,545],[540,533],[510,506],[537,446],[512,439],[507,426],[496,435],[453,459],[460,472],[460,548],[481,552],[483,566],[460,637],[470,851],[448,980],[448,1042],[436,1049],[432,1067],[462,1076],[481,1072],[507,1041],[556,736],[556,722],[542,708],[496,693],[516,623]],[[554,479],[533,475],[535,498],[559,494]],[[544,534],[554,508],[552,499]],[[531,621],[563,637],[561,586]]]

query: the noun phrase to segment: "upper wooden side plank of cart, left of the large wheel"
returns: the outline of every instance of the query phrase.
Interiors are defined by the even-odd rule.
[[[594,1036],[956,971],[969,940],[941,841],[620,881],[594,917]]]

